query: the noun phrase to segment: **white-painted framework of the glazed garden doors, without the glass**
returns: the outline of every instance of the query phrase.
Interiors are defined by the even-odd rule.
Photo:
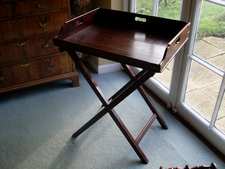
[[[156,3],[153,5],[153,15],[158,13],[158,1],[154,0]],[[207,0],[211,3],[217,5],[225,6],[225,2],[221,0]],[[222,2],[222,3],[221,3]],[[135,3],[135,0],[131,0],[132,3]],[[215,147],[217,147],[223,154],[225,154],[225,136],[219,130],[215,128],[215,122],[218,116],[219,108],[221,106],[222,100],[225,92],[225,72],[218,69],[214,65],[204,61],[196,54],[193,54],[193,49],[195,45],[196,34],[198,31],[198,25],[200,20],[200,9],[202,5],[202,0],[183,0],[182,10],[181,10],[181,20],[191,22],[191,32],[190,39],[185,45],[184,49],[179,53],[180,56],[177,56],[174,61],[174,68],[171,77],[170,89],[167,89],[156,79],[149,79],[146,85],[152,89],[152,91],[157,91],[157,95],[164,100],[168,106],[172,107],[175,112],[182,116],[186,121],[200,132],[209,142],[211,142]],[[133,9],[131,12],[135,12]],[[195,61],[198,64],[206,67],[207,69],[213,71],[217,75],[223,78],[220,89],[219,96],[214,107],[212,118],[210,123],[205,120],[202,116],[196,113],[195,110],[191,109],[184,102],[188,76],[190,72],[191,63]],[[138,71],[138,70],[137,70]]]

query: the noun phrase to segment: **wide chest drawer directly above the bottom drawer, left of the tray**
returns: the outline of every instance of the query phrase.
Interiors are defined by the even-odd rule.
[[[37,36],[28,40],[2,44],[0,46],[0,65],[24,63],[24,59],[33,60],[58,53],[58,48],[52,42],[54,35],[55,33],[52,33],[46,37]]]

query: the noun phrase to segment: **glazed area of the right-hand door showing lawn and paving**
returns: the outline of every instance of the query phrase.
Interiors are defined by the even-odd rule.
[[[225,7],[203,1],[196,33],[185,104],[225,133]],[[220,98],[221,97],[221,98]],[[220,112],[219,112],[220,111]],[[220,122],[217,123],[217,120]]]

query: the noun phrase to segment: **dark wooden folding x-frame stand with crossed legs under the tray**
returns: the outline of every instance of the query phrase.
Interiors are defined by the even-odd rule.
[[[121,89],[119,89],[112,97],[108,100],[105,99],[103,93],[101,92],[100,88],[96,84],[95,81],[92,80],[89,71],[85,64],[83,63],[82,59],[78,57],[75,51],[69,51],[69,55],[75,61],[77,67],[79,67],[80,72],[83,74],[84,78],[87,80],[88,84],[91,86],[92,90],[95,92],[97,97],[102,103],[101,109],[98,113],[90,119],[86,124],[84,124],[79,130],[77,130],[73,135],[72,138],[78,137],[81,133],[83,133],[86,129],[92,126],[95,122],[101,119],[105,114],[109,113],[112,117],[116,125],[119,127],[123,135],[126,137],[127,141],[133,147],[134,151],[137,153],[140,160],[147,164],[148,158],[139,147],[139,143],[141,139],[144,137],[147,130],[150,128],[152,123],[157,119],[163,129],[167,129],[167,124],[163,120],[163,118],[157,113],[156,109],[153,107],[152,103],[150,102],[149,98],[147,97],[147,93],[143,88],[143,83],[154,75],[154,72],[149,69],[143,69],[137,75],[135,75],[130,67],[125,64],[121,64],[126,73],[130,77],[130,81],[128,81]],[[137,138],[135,139],[132,134],[129,132],[121,118],[118,116],[116,111],[113,109],[116,105],[118,105],[121,101],[123,101],[128,95],[130,95],[134,90],[138,89],[141,96],[144,98],[145,102],[149,106],[150,110],[152,111],[153,115],[150,117],[147,124],[143,127],[141,132],[138,134]]]

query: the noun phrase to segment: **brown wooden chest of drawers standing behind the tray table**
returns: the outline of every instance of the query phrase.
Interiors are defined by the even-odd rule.
[[[60,79],[79,84],[52,38],[69,19],[68,0],[0,0],[0,93]]]

